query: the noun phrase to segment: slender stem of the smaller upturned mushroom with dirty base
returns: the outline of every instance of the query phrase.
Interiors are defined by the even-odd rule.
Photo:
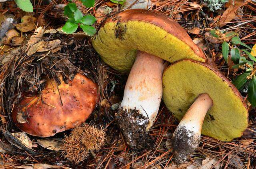
[[[184,163],[198,147],[204,117],[212,104],[207,93],[200,94],[174,131],[172,146],[178,163]]]

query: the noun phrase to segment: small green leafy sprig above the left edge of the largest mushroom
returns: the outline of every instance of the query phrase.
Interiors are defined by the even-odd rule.
[[[95,0],[80,0],[86,7],[94,6]],[[64,8],[64,15],[68,16],[66,24],[62,27],[65,33],[74,33],[78,26],[89,36],[94,35],[96,29],[92,26],[96,18],[92,15],[83,16],[75,3],[68,3]]]

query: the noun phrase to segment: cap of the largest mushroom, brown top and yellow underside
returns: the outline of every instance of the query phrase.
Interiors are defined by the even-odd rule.
[[[132,9],[107,18],[95,37],[94,49],[120,72],[129,72],[137,50],[174,62],[188,58],[205,61],[202,50],[174,20],[160,12]]]

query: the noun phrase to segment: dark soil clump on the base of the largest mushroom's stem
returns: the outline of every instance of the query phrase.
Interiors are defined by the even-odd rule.
[[[149,120],[139,110],[121,107],[115,120],[132,149],[154,148],[154,142],[146,131]]]

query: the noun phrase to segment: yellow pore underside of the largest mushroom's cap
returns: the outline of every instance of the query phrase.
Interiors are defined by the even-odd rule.
[[[174,62],[188,58],[204,61],[186,43],[166,30],[148,22],[106,23],[92,40],[102,60],[120,72],[129,72],[137,50]]]

